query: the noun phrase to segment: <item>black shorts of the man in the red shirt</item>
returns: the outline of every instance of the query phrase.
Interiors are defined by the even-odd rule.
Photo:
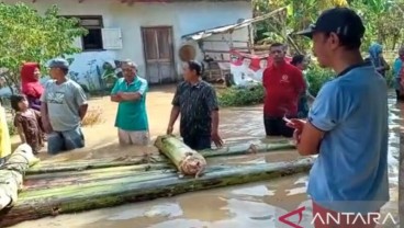
[[[287,122],[282,117],[263,116],[263,125],[267,136],[293,137],[294,129],[287,126]]]

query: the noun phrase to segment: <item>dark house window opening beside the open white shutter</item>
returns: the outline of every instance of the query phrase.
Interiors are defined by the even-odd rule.
[[[75,16],[80,20],[80,26],[88,31],[87,35],[82,36],[82,50],[102,49],[102,16]]]

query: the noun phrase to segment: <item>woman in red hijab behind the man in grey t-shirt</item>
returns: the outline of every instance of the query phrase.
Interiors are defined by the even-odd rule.
[[[36,62],[25,62],[21,68],[22,93],[29,100],[30,107],[41,110],[41,95],[44,88],[40,82],[41,71],[40,65]]]

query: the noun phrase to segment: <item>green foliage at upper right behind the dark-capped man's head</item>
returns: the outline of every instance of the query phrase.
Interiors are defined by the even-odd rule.
[[[294,50],[305,53],[310,50],[311,45],[306,38],[296,36],[290,38],[287,35],[307,27],[323,10],[336,5],[348,5],[362,16],[367,29],[363,50],[367,50],[372,42],[382,43],[386,49],[402,45],[400,37],[404,35],[402,26],[404,0],[254,0],[255,15],[288,7],[288,14],[284,18],[257,23],[256,42],[294,43],[290,45]]]

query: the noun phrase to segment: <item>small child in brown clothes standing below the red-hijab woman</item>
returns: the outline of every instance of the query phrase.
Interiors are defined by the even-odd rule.
[[[14,126],[18,128],[21,141],[30,145],[34,155],[38,153],[44,146],[43,134],[40,127],[40,112],[30,109],[25,95],[12,95],[11,107],[16,112]]]

